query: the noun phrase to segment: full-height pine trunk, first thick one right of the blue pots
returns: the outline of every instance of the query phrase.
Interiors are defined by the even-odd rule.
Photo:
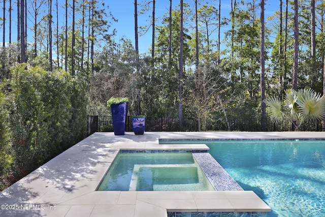
[[[183,0],[180,0],[180,34],[179,34],[179,91],[178,118],[179,131],[183,131]]]

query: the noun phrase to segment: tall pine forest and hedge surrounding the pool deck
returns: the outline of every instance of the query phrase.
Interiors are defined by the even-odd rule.
[[[325,3],[277,3],[265,17],[264,0],[124,1],[131,40],[107,1],[1,1],[0,188],[83,139],[111,97],[127,97],[131,115],[176,116],[180,131],[183,117],[269,130],[266,96],[324,92]]]

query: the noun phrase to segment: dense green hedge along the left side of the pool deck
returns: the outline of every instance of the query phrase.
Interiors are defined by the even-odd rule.
[[[81,139],[85,92],[68,73],[17,65],[8,80],[16,169],[35,169]]]

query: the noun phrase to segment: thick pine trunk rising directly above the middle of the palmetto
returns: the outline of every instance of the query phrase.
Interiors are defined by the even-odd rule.
[[[295,4],[295,31],[294,31],[294,72],[293,72],[293,89],[298,90],[298,49],[299,49],[299,41],[298,41],[298,0],[294,1]]]

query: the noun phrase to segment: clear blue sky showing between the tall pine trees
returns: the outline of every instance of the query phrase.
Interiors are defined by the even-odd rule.
[[[133,42],[133,45],[135,46],[135,29],[134,29],[134,0],[102,0],[105,5],[109,6],[109,10],[111,11],[111,13],[113,14],[113,16],[118,20],[117,22],[113,22],[112,23],[112,29],[116,29],[116,36],[115,36],[115,40],[118,41],[120,38],[124,37],[127,39],[130,39]],[[146,2],[148,2],[149,0],[146,0]],[[259,2],[258,0],[255,0],[256,3]],[[32,0],[27,0],[27,4],[30,7]],[[71,0],[69,0],[69,2],[72,2]],[[179,4],[179,0],[174,0],[173,1],[173,9],[176,8],[176,6]],[[184,3],[187,2],[190,5],[190,8],[192,10],[194,10],[194,1],[193,0],[184,0]],[[201,4],[213,4],[216,8],[218,8],[218,0],[201,0],[199,1],[199,3],[201,2]],[[213,2],[213,3],[211,3]],[[273,3],[272,3],[273,2]],[[65,11],[64,11],[64,7],[63,5],[63,0],[58,0],[59,5],[61,5],[61,7],[59,8],[59,13],[58,13],[58,17],[59,17],[59,25],[64,26],[65,23]],[[143,0],[138,0],[138,4],[142,4]],[[160,25],[161,24],[161,17],[163,17],[164,14],[169,13],[169,0],[156,0],[156,13],[155,13],[155,17],[156,19],[156,25]],[[1,4],[2,7],[2,4]],[[200,5],[198,6],[199,8],[201,7]],[[266,18],[270,15],[273,15],[274,12],[276,10],[278,10],[278,2],[276,2],[276,4],[274,4],[274,1],[268,1],[266,2],[266,6],[265,6],[265,16]],[[7,6],[7,10],[8,10],[8,6]],[[53,1],[53,13],[54,13],[54,17],[56,16],[56,7],[55,7],[55,1]],[[17,41],[17,31],[16,31],[16,25],[17,25],[17,15],[16,15],[16,6],[13,6],[13,17],[12,17],[12,41],[15,42]],[[29,9],[30,10],[30,9]],[[141,10],[141,6],[138,6],[138,11],[140,12]],[[221,0],[221,17],[229,17],[229,13],[231,11],[231,0]],[[151,15],[151,11],[147,12],[146,14],[140,14],[138,13],[138,25],[139,26],[143,26],[143,25],[148,25],[150,23],[150,15]],[[1,14],[2,15],[2,14]],[[8,13],[7,13],[7,20],[9,19],[8,17]],[[30,18],[29,18],[30,19]],[[32,23],[31,20],[28,20],[28,22],[30,22],[29,24]],[[56,21],[54,21],[56,22]],[[28,24],[28,25],[29,25]],[[53,24],[55,25],[55,23]],[[32,24],[30,25],[32,26]],[[8,30],[8,23],[6,26],[6,41],[8,41],[8,36],[7,34],[9,34],[9,30]],[[223,39],[224,37],[224,32],[226,32],[226,30],[228,30],[227,28],[229,28],[229,26],[224,26],[221,28],[221,39]],[[2,27],[2,23],[0,25],[0,38],[2,38],[3,35],[3,31],[2,31],[3,27]],[[151,28],[149,28],[149,30],[147,31],[146,34],[144,35],[140,35],[139,34],[139,52],[140,53],[150,53],[150,48],[151,48],[151,33],[152,30]],[[215,32],[215,34],[217,34],[217,32]],[[34,41],[34,39],[32,39],[32,33],[28,33],[28,41]],[[8,43],[8,42],[7,42]],[[221,49],[222,49],[222,44],[221,44]]]

